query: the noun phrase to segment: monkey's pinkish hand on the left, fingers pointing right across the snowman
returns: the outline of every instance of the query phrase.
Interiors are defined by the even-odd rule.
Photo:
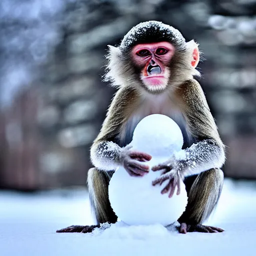
[[[131,150],[131,146],[126,146],[120,153],[120,164],[130,176],[144,176],[149,171],[149,166],[140,162],[149,161],[151,158],[147,153]]]

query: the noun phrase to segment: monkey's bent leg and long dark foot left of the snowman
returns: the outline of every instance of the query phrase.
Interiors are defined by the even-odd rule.
[[[88,171],[87,184],[89,190],[89,198],[92,209],[95,213],[96,225],[72,225],[56,232],[82,232],[89,233],[95,227],[100,227],[100,223],[115,223],[117,216],[113,212],[108,199],[108,184],[114,171],[103,171],[97,168],[90,168]]]

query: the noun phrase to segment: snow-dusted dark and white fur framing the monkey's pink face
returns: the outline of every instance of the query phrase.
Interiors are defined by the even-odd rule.
[[[195,67],[191,65],[193,50],[198,48],[198,44],[194,40],[185,42],[182,34],[172,26],[159,21],[147,21],[131,28],[123,37],[119,46],[108,45],[104,80],[117,88],[121,86],[138,88],[138,84],[145,87],[140,79],[140,74],[135,71],[130,50],[137,43],[153,40],[154,42],[168,41],[175,46],[174,55],[167,67],[170,70],[168,88],[173,88],[186,79],[193,78],[193,76],[200,76],[196,65]],[[150,89],[155,89],[155,87]],[[156,88],[155,91],[159,90]]]

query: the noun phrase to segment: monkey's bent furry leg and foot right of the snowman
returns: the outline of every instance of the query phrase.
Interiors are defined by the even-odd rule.
[[[193,177],[192,177],[193,178]],[[186,181],[188,187],[188,200],[186,209],[179,217],[179,232],[222,232],[221,228],[202,225],[206,220],[219,199],[223,186],[223,172],[219,168],[213,168],[198,174],[189,187],[189,178]]]

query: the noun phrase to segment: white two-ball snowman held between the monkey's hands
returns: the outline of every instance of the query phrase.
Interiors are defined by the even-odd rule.
[[[183,138],[172,119],[152,114],[138,123],[130,144],[133,149],[152,155],[152,159],[146,162],[152,167],[181,150]],[[168,198],[167,194],[160,193],[167,181],[161,186],[152,186],[152,180],[159,175],[159,171],[150,170],[143,177],[131,177],[123,167],[116,169],[110,180],[108,193],[111,207],[123,222],[130,225],[160,223],[166,226],[182,214],[187,203],[184,183],[181,182],[179,195],[175,191]]]

